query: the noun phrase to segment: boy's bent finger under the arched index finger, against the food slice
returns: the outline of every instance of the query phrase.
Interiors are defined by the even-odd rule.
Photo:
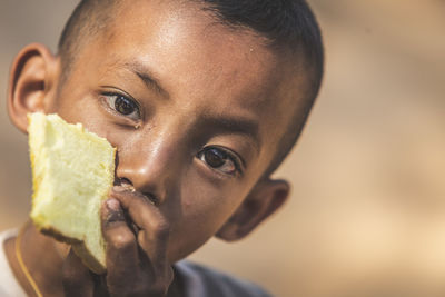
[[[108,286],[130,285],[139,268],[138,245],[117,199],[103,204],[102,234],[107,242]]]

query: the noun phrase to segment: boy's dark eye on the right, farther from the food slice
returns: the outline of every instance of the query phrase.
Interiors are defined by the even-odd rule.
[[[237,171],[240,171],[240,168],[238,158],[234,155],[227,149],[207,147],[198,152],[198,159],[226,175],[235,175]]]

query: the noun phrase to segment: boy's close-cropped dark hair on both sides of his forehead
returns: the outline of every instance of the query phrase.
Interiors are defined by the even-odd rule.
[[[67,78],[76,53],[88,38],[103,30],[112,9],[122,0],[81,0],[69,18],[59,40],[62,60],[62,81]],[[177,0],[184,1],[184,0]],[[277,152],[265,175],[271,174],[297,141],[315,98],[324,72],[323,39],[317,20],[305,0],[188,0],[202,4],[222,24],[248,29],[266,38],[275,49],[303,52],[308,86],[303,102],[303,117],[298,112],[278,143]],[[297,110],[295,107],[289,107]]]

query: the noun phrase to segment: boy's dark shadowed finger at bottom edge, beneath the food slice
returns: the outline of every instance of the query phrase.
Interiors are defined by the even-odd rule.
[[[95,283],[91,274],[72,249],[63,263],[62,285],[67,297],[93,296]]]

